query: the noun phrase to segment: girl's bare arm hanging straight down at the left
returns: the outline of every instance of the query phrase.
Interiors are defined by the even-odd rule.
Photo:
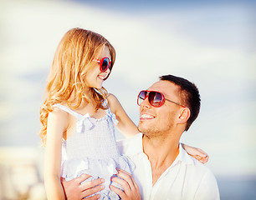
[[[65,199],[60,183],[61,144],[68,127],[68,113],[54,107],[49,112],[47,142],[44,153],[44,186],[48,200]]]

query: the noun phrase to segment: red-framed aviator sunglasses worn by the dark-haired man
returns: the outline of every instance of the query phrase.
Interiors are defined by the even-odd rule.
[[[138,95],[137,104],[140,106],[141,102],[143,102],[146,99],[146,97],[148,97],[148,102],[153,107],[161,107],[165,101],[172,102],[171,100],[166,99],[161,92],[142,90]],[[184,107],[177,102],[173,102],[173,103],[181,107]]]

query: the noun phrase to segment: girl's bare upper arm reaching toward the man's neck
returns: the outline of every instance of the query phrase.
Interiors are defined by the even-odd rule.
[[[107,99],[111,112],[115,114],[116,119],[119,121],[116,128],[118,128],[120,133],[125,135],[125,137],[131,137],[136,133],[139,133],[135,123],[131,121],[130,117],[128,117],[118,99],[113,94],[110,94]]]

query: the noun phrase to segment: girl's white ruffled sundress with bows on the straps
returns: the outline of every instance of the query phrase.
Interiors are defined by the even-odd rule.
[[[110,178],[117,173],[116,168],[132,173],[134,164],[118,151],[114,126],[118,121],[115,114],[108,108],[105,117],[95,119],[89,113],[81,115],[60,104],[54,107],[77,118],[75,133],[62,143],[61,177],[69,181],[86,173],[92,176],[86,181],[104,178],[105,189],[100,191],[100,199],[120,199],[109,187],[110,184],[121,187],[111,183]]]

